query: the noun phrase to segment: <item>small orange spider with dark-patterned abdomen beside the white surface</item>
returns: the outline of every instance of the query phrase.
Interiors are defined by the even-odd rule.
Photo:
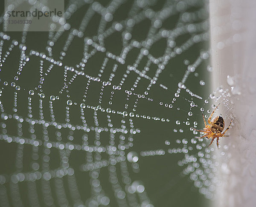
[[[220,103],[218,104],[218,106],[220,105]],[[215,109],[218,108],[218,106],[215,107]],[[211,118],[212,118],[212,115],[215,111],[215,109],[212,111],[211,115],[209,116],[208,118],[208,124],[206,124],[206,121],[205,121],[205,118],[204,118],[204,114],[202,113],[203,115],[203,119],[204,119],[204,129],[203,130],[198,130],[198,129],[195,129],[196,131],[198,132],[204,132],[204,135],[199,137],[199,138],[212,138],[212,141],[211,143],[209,144],[209,146],[212,144],[212,142],[214,141],[215,138],[217,138],[217,147],[218,147],[218,140],[219,140],[219,137],[224,137],[226,135],[224,135],[227,130],[230,128],[230,125],[233,121],[233,118],[231,119],[230,121],[230,125],[227,127],[227,129],[221,133],[224,129],[224,126],[225,126],[225,122],[224,122],[224,119],[221,117],[221,116],[216,116],[212,121],[211,121]],[[209,147],[208,146],[208,147]]]

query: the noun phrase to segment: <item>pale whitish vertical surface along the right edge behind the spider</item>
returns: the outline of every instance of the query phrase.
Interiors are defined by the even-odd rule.
[[[228,112],[234,117],[230,136],[221,138],[222,148],[215,150],[220,181],[215,206],[255,207],[256,1],[210,0],[210,24],[213,88],[230,89]],[[226,109],[221,104],[220,111]]]

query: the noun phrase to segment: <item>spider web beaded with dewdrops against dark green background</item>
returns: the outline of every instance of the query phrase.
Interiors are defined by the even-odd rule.
[[[206,8],[70,1],[57,32],[0,32],[1,206],[158,206],[143,177],[177,163],[212,198],[192,127],[229,92],[207,85]]]

